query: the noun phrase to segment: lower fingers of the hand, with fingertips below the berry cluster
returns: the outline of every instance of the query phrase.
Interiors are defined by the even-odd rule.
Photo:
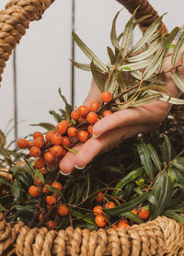
[[[63,157],[60,163],[60,168],[64,173],[71,172],[76,166],[83,168],[99,153],[114,147],[134,134],[147,133],[149,130],[150,128],[145,125],[133,125],[114,129],[98,138],[92,137],[85,144],[76,146],[78,148],[76,155],[67,153],[67,156]]]

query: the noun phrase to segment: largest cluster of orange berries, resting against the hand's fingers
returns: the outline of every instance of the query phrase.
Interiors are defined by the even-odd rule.
[[[109,91],[104,91],[101,94],[101,99],[102,102],[108,103],[112,99],[112,94]],[[17,146],[21,149],[29,148],[29,157],[37,157],[35,168],[42,169],[46,163],[52,164],[58,158],[62,158],[66,154],[67,148],[75,142],[86,142],[90,134],[93,134],[94,123],[98,122],[99,118],[111,113],[111,111],[104,111],[103,116],[98,116],[99,108],[100,102],[98,101],[91,102],[89,108],[81,105],[77,110],[71,112],[71,122],[63,120],[57,123],[55,130],[45,134],[45,137],[40,132],[35,132],[34,140],[28,141],[21,138],[17,141]],[[82,122],[84,125],[77,128],[77,125]]]

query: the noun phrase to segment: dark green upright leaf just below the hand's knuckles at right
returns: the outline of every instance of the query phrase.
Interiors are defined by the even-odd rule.
[[[145,143],[137,145],[139,157],[141,159],[141,162],[144,166],[144,170],[149,177],[149,179],[154,179],[154,169],[153,164],[150,157],[150,152],[148,150],[148,147]]]

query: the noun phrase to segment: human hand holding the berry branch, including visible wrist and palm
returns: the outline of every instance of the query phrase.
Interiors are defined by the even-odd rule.
[[[165,82],[170,91],[171,96],[178,97],[180,91],[174,84],[169,69],[171,67],[171,55],[168,55],[165,64]],[[178,58],[178,64],[181,63],[181,55]],[[179,71],[184,76],[184,68],[180,67]],[[100,100],[100,90],[93,81],[89,94],[84,102],[86,106],[92,101]],[[93,127],[93,136],[86,141],[85,144],[78,143],[73,149],[77,151],[74,155],[68,152],[60,162],[62,173],[68,174],[72,170],[83,169],[94,157],[100,152],[106,151],[109,148],[118,145],[122,141],[132,137],[135,134],[148,133],[159,122],[162,122],[171,104],[155,100],[141,107],[129,108],[123,111],[114,112],[95,123]]]

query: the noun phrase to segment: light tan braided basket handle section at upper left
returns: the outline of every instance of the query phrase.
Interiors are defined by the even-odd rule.
[[[51,0],[12,0],[0,11],[0,81],[6,61],[29,29],[29,22],[40,19],[51,4]]]

